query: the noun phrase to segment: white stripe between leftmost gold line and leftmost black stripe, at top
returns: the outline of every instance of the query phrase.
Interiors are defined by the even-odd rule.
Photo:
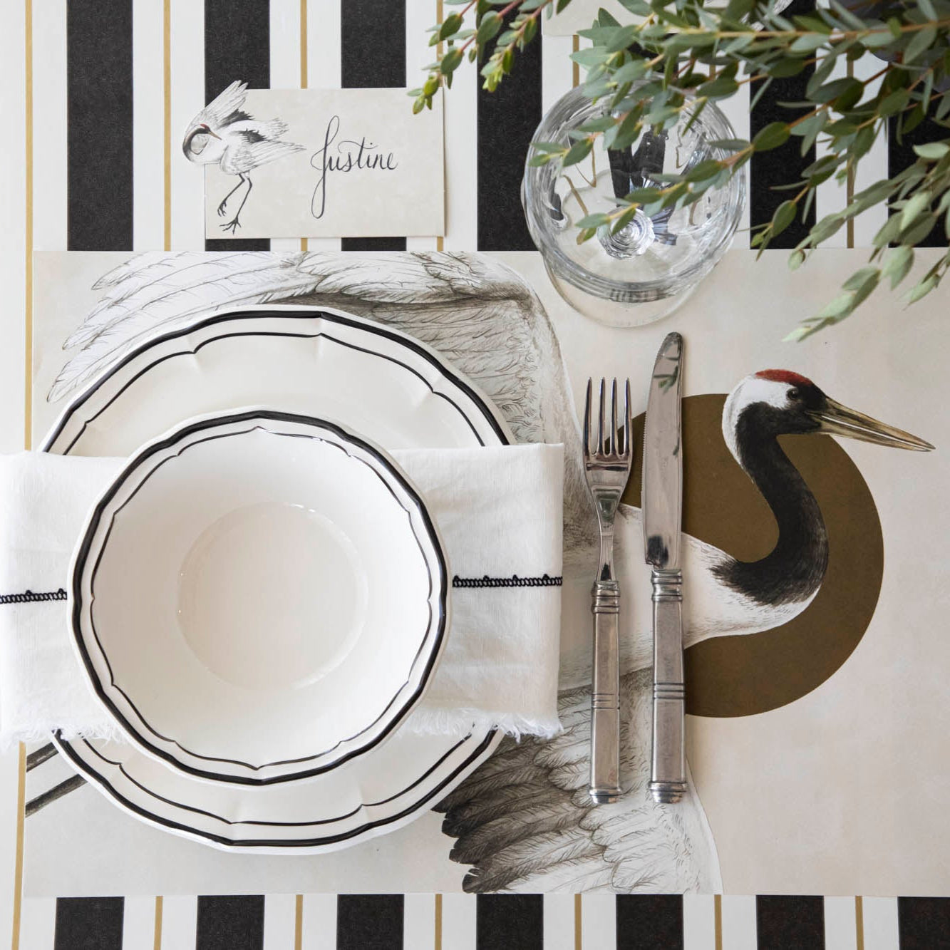
[[[66,0],[33,4],[33,59],[33,247],[65,251]]]

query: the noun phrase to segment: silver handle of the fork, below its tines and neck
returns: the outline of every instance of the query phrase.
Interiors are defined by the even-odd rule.
[[[599,804],[620,796],[620,696],[618,619],[620,588],[616,580],[594,583],[594,690],[591,696],[590,795]]]

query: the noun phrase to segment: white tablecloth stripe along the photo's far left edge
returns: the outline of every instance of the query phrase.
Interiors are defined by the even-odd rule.
[[[3,227],[0,227],[0,279],[4,287],[4,307],[0,312],[0,450],[14,452],[23,447],[23,390],[24,390],[24,313],[26,311],[26,257],[25,201],[26,163],[24,134],[26,128],[25,107],[25,45],[24,5],[14,4],[6,10],[3,29],[0,30],[0,84],[4,94],[0,96],[0,126],[7,130],[10,140],[5,153],[4,173],[0,175],[0,208],[3,208]],[[16,762],[16,750],[11,750],[4,761]],[[3,769],[6,773],[7,769]],[[15,772],[14,772],[15,774]],[[6,783],[2,790],[8,791]],[[5,795],[3,801],[6,803]],[[15,820],[16,785],[12,791]],[[8,841],[6,807],[0,812],[3,826],[0,827],[0,853],[12,854],[13,846]],[[7,846],[10,845],[10,846]],[[5,862],[0,871],[0,891],[12,894],[12,862]],[[8,866],[9,878],[8,878]],[[8,883],[10,887],[8,888]],[[0,897],[6,901],[6,897]],[[9,920],[6,915],[0,922]],[[4,933],[9,933],[4,930]]]

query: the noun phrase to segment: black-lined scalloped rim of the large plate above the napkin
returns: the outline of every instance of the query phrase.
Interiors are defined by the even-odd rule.
[[[53,430],[47,436],[41,450],[45,452],[50,451],[51,447],[55,444],[56,440],[60,437],[60,435],[65,430],[66,426],[69,424],[76,410],[84,406],[85,403],[88,401],[88,399],[92,395],[94,395],[96,392],[101,390],[104,387],[104,385],[109,380],[112,379],[113,376],[115,376],[117,373],[122,371],[125,367],[127,367],[133,361],[135,361],[140,356],[142,356],[142,354],[155,349],[156,347],[160,346],[163,343],[171,342],[173,340],[178,340],[178,339],[181,339],[182,337],[187,337],[191,335],[192,333],[199,333],[199,331],[206,330],[210,327],[216,326],[219,323],[225,323],[225,322],[237,321],[237,320],[248,320],[248,319],[262,320],[262,319],[285,319],[285,318],[295,319],[295,320],[309,320],[309,321],[313,321],[317,319],[327,320],[328,322],[336,323],[336,324],[339,324],[340,326],[348,327],[353,330],[381,336],[384,339],[390,340],[390,342],[395,343],[397,346],[405,347],[410,352],[413,352],[415,355],[421,357],[426,362],[428,362],[428,364],[430,364],[434,369],[439,371],[444,378],[449,380],[449,382],[451,382],[452,385],[454,385],[458,390],[461,390],[466,395],[468,400],[472,403],[472,405],[482,413],[482,415],[485,417],[485,421],[489,424],[489,426],[491,426],[491,428],[494,430],[495,434],[501,440],[503,445],[511,444],[511,440],[509,439],[507,433],[504,431],[504,424],[500,421],[500,416],[496,416],[495,412],[492,411],[489,405],[485,404],[485,401],[476,392],[476,390],[474,390],[472,386],[465,379],[461,378],[458,375],[457,371],[449,367],[447,363],[445,363],[436,352],[430,351],[428,347],[424,346],[418,340],[413,339],[408,334],[392,331],[386,327],[383,327],[379,324],[375,324],[371,321],[362,321],[352,316],[346,316],[344,314],[333,314],[325,310],[315,309],[312,311],[280,310],[280,311],[277,311],[276,313],[274,311],[268,312],[268,311],[260,311],[260,310],[224,311],[222,313],[213,314],[212,316],[206,317],[203,320],[199,320],[196,323],[189,324],[185,327],[181,327],[178,330],[169,331],[168,333],[163,333],[160,336],[155,336],[146,340],[144,343],[142,343],[141,346],[135,348],[134,350],[129,352],[126,356],[124,356],[123,359],[120,360],[118,363],[116,363],[115,366],[112,367],[111,370],[107,371],[106,373],[104,373],[104,375],[97,378],[93,384],[85,387],[85,389],[81,390],[73,398],[73,400],[69,403],[66,409],[63,410],[59,419],[54,424]],[[412,373],[412,375],[416,376],[419,380],[421,380],[423,384],[427,387],[427,389],[434,396],[437,396],[440,399],[445,399],[447,403],[449,403],[454,409],[456,409],[459,412],[459,414],[462,416],[462,418],[465,420],[468,428],[471,428],[473,434],[475,435],[475,438],[479,442],[479,445],[482,445],[482,446],[485,445],[485,442],[483,441],[481,435],[476,430],[476,428],[472,425],[471,420],[468,419],[465,411],[458,405],[458,403],[456,403],[453,399],[451,399],[446,393],[437,392],[433,388],[432,384],[428,381],[428,379],[425,376],[423,376],[419,371],[417,371],[415,368],[409,366],[408,363],[403,363],[401,360],[396,359],[394,356],[390,356],[390,354],[388,353],[376,352],[374,350],[369,350],[365,347],[356,346],[353,343],[349,343],[346,340],[338,339],[322,330],[317,331],[316,333],[266,333],[264,331],[258,330],[258,331],[242,332],[242,333],[221,333],[218,336],[211,336],[206,340],[202,340],[192,350],[183,350],[183,351],[178,351],[178,352],[173,352],[173,353],[167,353],[164,356],[161,356],[159,359],[155,360],[153,363],[150,363],[147,366],[142,367],[142,370],[138,371],[131,379],[129,379],[123,385],[123,387],[120,390],[115,392],[112,398],[109,399],[109,401],[105,403],[105,405],[101,409],[99,409],[95,413],[95,415],[91,416],[89,419],[84,421],[82,428],[80,428],[79,432],[73,437],[69,445],[66,446],[63,451],[57,452],[56,454],[68,455],[72,447],[74,447],[75,444],[79,441],[79,439],[82,438],[83,434],[85,433],[85,429],[88,428],[89,423],[95,420],[96,418],[98,418],[105,411],[105,409],[108,409],[123,394],[123,392],[126,389],[128,389],[128,387],[130,387],[137,379],[139,379],[140,376],[150,371],[153,367],[158,366],[160,363],[164,362],[165,360],[172,359],[176,356],[195,355],[209,343],[213,343],[213,342],[216,342],[218,340],[223,340],[223,339],[231,339],[233,337],[239,337],[239,336],[283,336],[283,337],[291,337],[291,338],[298,338],[298,339],[316,339],[317,337],[324,337],[328,340],[331,340],[333,343],[337,343],[340,346],[347,347],[348,349],[355,350],[358,352],[365,352],[371,356],[376,356],[379,359],[385,359],[385,360],[388,360],[390,363],[395,363],[397,366],[401,366],[404,370],[409,371],[410,373]]]

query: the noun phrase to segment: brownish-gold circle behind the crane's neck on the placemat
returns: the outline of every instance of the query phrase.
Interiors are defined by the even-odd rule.
[[[741,561],[764,558],[778,531],[768,504],[722,437],[724,395],[683,400],[683,530]],[[642,445],[643,416],[634,423]],[[687,712],[768,712],[821,686],[858,645],[878,601],[883,538],[877,508],[845,449],[825,435],[783,436],[788,458],[821,507],[828,567],[796,618],[759,634],[712,637],[686,651]],[[624,493],[640,504],[641,456]]]

